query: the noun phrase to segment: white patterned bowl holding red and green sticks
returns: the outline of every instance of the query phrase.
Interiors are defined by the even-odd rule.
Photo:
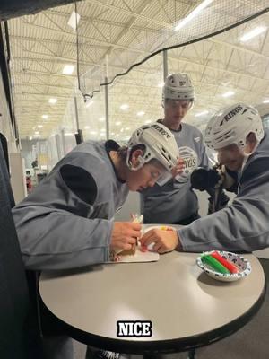
[[[215,250],[211,250],[208,252],[204,252],[203,254],[211,254],[214,251]],[[246,258],[240,256],[239,254],[227,252],[224,250],[217,250],[217,252],[220,253],[223,258],[230,260],[231,263],[236,265],[239,268],[239,273],[222,274],[220,272],[216,272],[215,270],[213,270],[212,267],[210,267],[210,265],[204,263],[201,259],[201,256],[199,256],[198,258],[196,258],[196,264],[198,267],[203,269],[204,273],[206,273],[208,276],[211,276],[214,279],[217,279],[222,282],[233,282],[239,280],[240,278],[243,278],[244,276],[248,276],[251,273],[251,266]]]

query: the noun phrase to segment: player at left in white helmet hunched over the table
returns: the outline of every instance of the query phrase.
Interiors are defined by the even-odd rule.
[[[126,147],[112,140],[76,146],[13,208],[25,267],[83,267],[107,262],[110,251],[130,250],[141,236],[141,224],[114,222],[115,213],[129,190],[169,180],[176,165],[174,136],[156,123],[138,128]],[[65,337],[52,336],[47,343],[45,357],[73,357]]]

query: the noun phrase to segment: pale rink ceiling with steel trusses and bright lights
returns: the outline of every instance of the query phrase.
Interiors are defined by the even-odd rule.
[[[91,92],[106,75],[111,79],[150,55],[156,43],[161,44],[160,34],[170,31],[178,19],[185,18],[200,3],[203,2],[87,0],[78,3],[82,90]],[[247,0],[232,3],[242,6]],[[14,106],[21,138],[48,137],[61,128],[74,133],[74,96],[84,137],[105,136],[104,87],[87,103],[77,89],[76,31],[67,23],[73,11],[74,4],[68,4],[8,21]],[[223,9],[219,16],[223,16]],[[233,16],[231,10],[229,16]],[[236,101],[256,105],[269,99],[268,16],[265,13],[230,31],[168,51],[169,73],[186,72],[195,85],[195,106],[186,118],[189,123],[203,130],[216,109]],[[240,40],[257,26],[265,27],[265,31],[246,42]],[[169,39],[162,39],[166,39],[163,44],[166,46]],[[163,56],[158,54],[109,86],[111,136],[126,139],[135,127],[161,118],[162,63]],[[63,74],[65,65],[74,65],[73,74]],[[56,99],[56,103],[49,103],[49,99]],[[123,104],[128,107],[122,109]],[[267,106],[263,104],[263,111],[267,111]],[[43,115],[47,118],[42,118]]]

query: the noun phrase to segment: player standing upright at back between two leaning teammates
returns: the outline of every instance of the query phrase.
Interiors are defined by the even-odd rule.
[[[198,200],[191,188],[190,175],[196,167],[208,167],[203,136],[194,126],[182,122],[195,99],[194,86],[187,74],[169,74],[162,91],[164,118],[158,122],[170,129],[185,162],[181,175],[160,187],[142,192],[144,223],[188,224],[197,219]]]

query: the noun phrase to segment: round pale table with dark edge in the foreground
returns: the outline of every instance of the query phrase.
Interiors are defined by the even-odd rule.
[[[42,301],[66,334],[91,346],[133,354],[172,353],[208,345],[247,323],[265,296],[265,276],[223,283],[195,265],[194,253],[173,251],[158,262],[96,265],[42,273]],[[117,320],[151,320],[152,337],[117,337]]]

